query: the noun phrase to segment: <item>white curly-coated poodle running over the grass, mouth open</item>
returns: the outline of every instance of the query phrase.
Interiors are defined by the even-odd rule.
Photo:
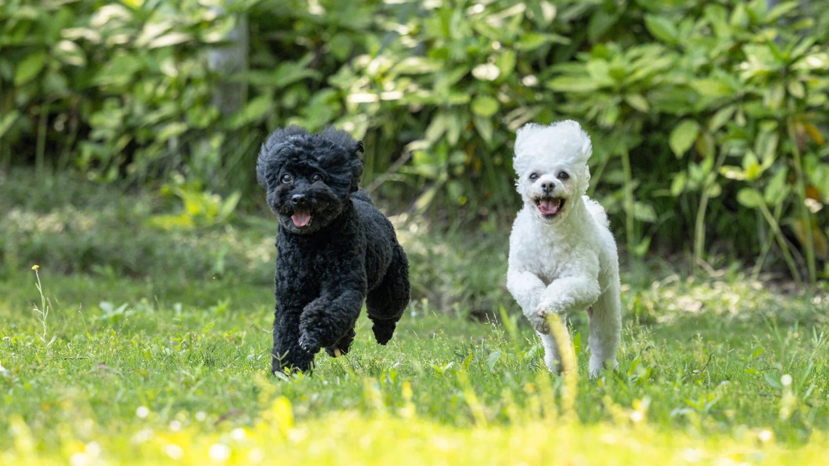
[[[560,356],[545,316],[586,309],[589,371],[598,376],[618,366],[622,318],[616,241],[604,208],[584,196],[592,152],[571,120],[518,130],[512,163],[524,207],[512,225],[507,288],[541,337],[550,371],[560,370]]]

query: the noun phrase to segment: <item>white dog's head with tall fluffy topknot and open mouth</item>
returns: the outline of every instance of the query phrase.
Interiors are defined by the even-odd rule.
[[[592,152],[590,137],[569,119],[518,130],[512,159],[516,187],[536,218],[551,223],[567,216],[573,200],[587,192]]]

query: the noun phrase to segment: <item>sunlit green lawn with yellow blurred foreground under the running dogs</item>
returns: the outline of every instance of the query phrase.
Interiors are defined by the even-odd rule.
[[[37,222],[66,205],[16,208]],[[74,208],[108,237],[146,235],[162,251],[184,238],[182,257],[223,235],[232,267],[124,274],[105,268],[108,256],[77,259],[98,244],[91,235],[62,243],[57,257],[85,264],[70,274],[48,256],[36,272],[21,265],[36,254],[26,245],[2,250],[17,265],[0,267],[0,464],[824,464],[829,454],[825,292],[778,292],[739,272],[626,277],[636,285],[623,289],[619,370],[584,377],[586,320],[574,315],[578,371],[553,376],[502,294],[505,246],[485,248],[497,234],[471,243],[405,224],[425,292],[392,342],[376,345],[362,317],[348,357],[321,353],[312,376],[281,378],[268,373],[272,285],[243,254],[266,222],[167,235],[140,216],[119,230],[107,223],[117,206]],[[474,271],[448,277],[464,268]]]

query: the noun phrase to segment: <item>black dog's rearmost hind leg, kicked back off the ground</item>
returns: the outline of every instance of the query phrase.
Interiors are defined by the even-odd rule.
[[[374,337],[381,345],[389,342],[395,333],[397,321],[409,305],[411,285],[409,284],[409,261],[400,245],[396,245],[395,259],[385,271],[385,277],[366,296],[368,317],[374,325]]]

